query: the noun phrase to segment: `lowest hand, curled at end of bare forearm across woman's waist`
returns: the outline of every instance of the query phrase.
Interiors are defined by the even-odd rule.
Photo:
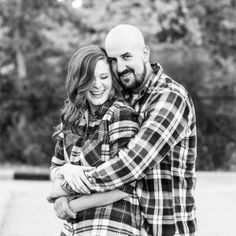
[[[55,200],[54,211],[58,218],[63,220],[75,219],[76,213],[69,206],[70,197],[60,197]]]

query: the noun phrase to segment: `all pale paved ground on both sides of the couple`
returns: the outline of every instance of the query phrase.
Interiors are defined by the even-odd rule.
[[[49,181],[0,179],[1,236],[58,236],[56,219],[45,197]],[[198,173],[196,236],[236,235],[236,173]]]

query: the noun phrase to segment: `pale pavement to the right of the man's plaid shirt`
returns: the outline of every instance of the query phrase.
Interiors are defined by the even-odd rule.
[[[236,235],[236,173],[198,173],[196,236]]]

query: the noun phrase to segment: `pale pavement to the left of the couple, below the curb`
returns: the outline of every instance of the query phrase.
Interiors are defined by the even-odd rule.
[[[58,236],[61,222],[46,202],[48,181],[0,180],[1,236]]]

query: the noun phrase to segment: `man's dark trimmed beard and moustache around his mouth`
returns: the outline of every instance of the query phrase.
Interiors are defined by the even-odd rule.
[[[125,83],[124,81],[122,81],[122,79],[120,79],[120,77],[125,75],[126,73],[132,73],[134,75],[134,79],[131,83]],[[143,83],[143,81],[146,77],[146,74],[147,74],[147,68],[144,64],[144,70],[143,70],[143,73],[140,76],[137,76],[134,73],[133,69],[128,68],[128,69],[124,70],[123,72],[118,73],[118,78],[119,78],[119,81],[120,81],[122,87],[125,90],[132,91],[132,90],[135,90],[135,89],[140,87],[140,85]]]

